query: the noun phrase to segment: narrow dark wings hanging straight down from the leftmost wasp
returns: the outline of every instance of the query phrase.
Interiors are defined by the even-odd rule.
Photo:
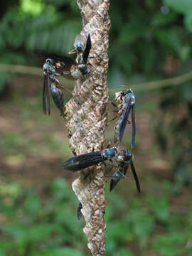
[[[49,75],[44,75],[43,82],[43,113],[47,113],[46,100],[48,102],[48,114],[50,114],[50,85]]]

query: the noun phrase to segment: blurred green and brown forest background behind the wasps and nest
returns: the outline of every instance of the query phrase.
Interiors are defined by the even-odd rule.
[[[0,16],[0,256],[90,255],[70,187],[78,174],[62,169],[73,156],[65,123],[53,102],[43,116],[36,54],[67,54],[80,11],[73,0],[9,0]],[[132,174],[112,193],[107,184],[106,255],[192,255],[192,1],[112,1],[110,18],[110,97],[119,85],[136,95],[142,193]],[[130,139],[127,128],[124,147]]]

